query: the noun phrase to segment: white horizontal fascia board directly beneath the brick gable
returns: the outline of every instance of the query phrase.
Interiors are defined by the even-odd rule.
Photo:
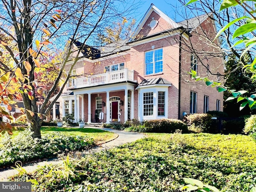
[[[143,39],[143,40],[138,39],[138,41],[132,42],[129,45],[130,46],[138,46],[138,45],[142,45],[142,44],[145,44],[145,43],[149,43],[149,42],[158,41],[158,40],[161,40],[161,39],[164,39],[164,38],[172,37],[172,36],[175,36],[175,35],[178,35],[178,34],[181,34],[181,30],[175,30],[175,31],[169,32],[169,33],[166,32],[164,34],[160,34],[158,36],[155,36],[155,37],[152,37],[152,38],[146,38],[146,39]],[[182,37],[184,37],[186,40],[188,40],[188,35],[187,34],[183,33]]]

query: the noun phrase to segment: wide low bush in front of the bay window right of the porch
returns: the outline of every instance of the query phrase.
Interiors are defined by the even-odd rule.
[[[176,130],[187,132],[188,127],[177,119],[156,119],[144,122],[146,132],[174,133]]]

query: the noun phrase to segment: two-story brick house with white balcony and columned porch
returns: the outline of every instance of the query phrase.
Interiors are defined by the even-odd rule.
[[[73,75],[86,76],[68,82],[58,100],[60,117],[74,114],[76,120],[91,123],[103,112],[101,121],[109,123],[222,111],[223,93],[196,83],[187,73],[191,68],[200,76],[211,71],[215,81],[224,73],[223,58],[201,64],[198,56],[181,47],[191,42],[201,52],[210,49],[193,32],[197,28],[214,39],[216,28],[207,15],[176,23],[152,4],[135,30],[136,38],[97,49],[87,46],[72,70]],[[66,70],[70,64],[72,60]]]

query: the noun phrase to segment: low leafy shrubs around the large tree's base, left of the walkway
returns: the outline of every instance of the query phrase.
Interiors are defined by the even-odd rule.
[[[13,165],[16,161],[29,162],[40,158],[55,157],[62,152],[84,150],[94,144],[93,139],[80,136],[65,136],[57,133],[33,139],[32,132],[25,130],[11,138],[6,136],[0,141],[0,167]]]

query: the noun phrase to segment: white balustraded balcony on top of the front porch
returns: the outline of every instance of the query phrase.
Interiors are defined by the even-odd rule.
[[[128,70],[125,68],[114,72],[106,72],[92,75],[90,77],[77,78],[74,79],[74,88],[85,88],[126,81],[136,82],[134,80],[134,70]]]

